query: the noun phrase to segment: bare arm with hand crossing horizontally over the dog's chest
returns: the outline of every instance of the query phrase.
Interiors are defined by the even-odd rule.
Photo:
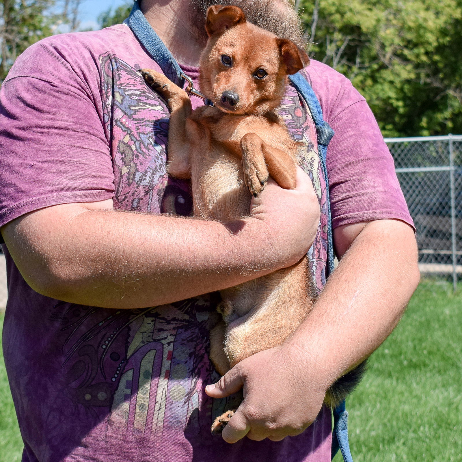
[[[270,179],[249,213],[223,223],[115,211],[106,200],[36,210],[1,232],[37,292],[76,304],[143,308],[296,263],[316,236],[320,214],[310,177],[300,168],[295,189]]]

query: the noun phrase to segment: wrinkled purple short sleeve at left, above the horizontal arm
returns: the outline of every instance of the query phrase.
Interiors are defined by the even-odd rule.
[[[43,207],[113,197],[97,100],[97,88],[52,46],[18,58],[0,90],[0,226]]]

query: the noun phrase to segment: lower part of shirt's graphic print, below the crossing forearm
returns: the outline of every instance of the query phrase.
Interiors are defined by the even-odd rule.
[[[208,332],[218,320],[211,305],[204,297],[145,310],[88,308],[75,321],[78,313],[67,310],[60,317],[69,320],[61,329],[69,395],[89,411],[110,406],[107,425],[119,432],[161,437],[164,425],[192,424],[208,431],[210,410],[201,426],[198,410],[207,381],[219,378],[207,359]],[[97,322],[82,329],[90,316]]]

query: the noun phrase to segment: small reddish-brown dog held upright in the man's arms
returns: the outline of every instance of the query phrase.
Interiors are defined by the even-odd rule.
[[[269,175],[280,187],[295,188],[298,153],[305,146],[292,140],[276,109],[287,75],[309,58],[291,41],[249,24],[237,6],[211,6],[206,30],[200,87],[213,107],[193,112],[185,91],[162,74],[141,72],[169,104],[168,172],[191,179],[194,215],[236,220],[249,215],[252,195],[263,190]],[[210,358],[221,374],[281,345],[316,297],[307,257],[220,293],[223,321],[211,332]],[[338,391],[329,390],[329,405],[344,398],[344,390]],[[212,432],[220,432],[232,413],[219,417]]]

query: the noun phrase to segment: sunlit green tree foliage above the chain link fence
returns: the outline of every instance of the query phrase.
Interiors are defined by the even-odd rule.
[[[348,77],[385,136],[462,133],[462,0],[302,0],[311,55]]]

